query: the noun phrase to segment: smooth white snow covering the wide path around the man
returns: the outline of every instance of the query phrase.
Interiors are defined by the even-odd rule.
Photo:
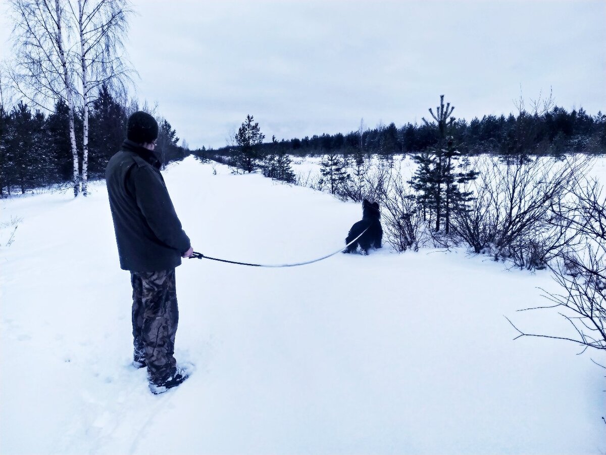
[[[193,158],[165,178],[196,251],[284,263],[335,251],[361,207]],[[286,269],[177,270],[182,386],[130,366],[130,281],[104,183],[1,201],[1,453],[606,451],[600,353],[570,334],[547,272],[388,247]],[[599,357],[602,355],[602,357]]]

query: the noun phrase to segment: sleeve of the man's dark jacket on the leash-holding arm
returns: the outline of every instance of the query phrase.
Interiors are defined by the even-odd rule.
[[[137,205],[151,231],[181,254],[190,249],[190,239],[181,227],[162,177],[150,167],[135,166],[131,178]]]

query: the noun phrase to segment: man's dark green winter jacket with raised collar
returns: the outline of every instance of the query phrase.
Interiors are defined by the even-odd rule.
[[[190,240],[181,228],[155,153],[125,140],[105,169],[120,266],[155,272],[181,265]]]

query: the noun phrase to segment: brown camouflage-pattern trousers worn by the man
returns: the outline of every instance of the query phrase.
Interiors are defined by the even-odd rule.
[[[133,285],[135,362],[147,363],[151,382],[161,383],[175,371],[175,334],[179,322],[175,269],[130,272]]]

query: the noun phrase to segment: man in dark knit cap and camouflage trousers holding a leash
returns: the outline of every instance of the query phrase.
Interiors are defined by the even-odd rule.
[[[130,271],[133,285],[133,366],[147,366],[155,394],[189,375],[173,356],[179,320],[175,268],[193,252],[160,174],[157,138],[153,116],[133,113],[127,139],[105,169],[120,266]]]

